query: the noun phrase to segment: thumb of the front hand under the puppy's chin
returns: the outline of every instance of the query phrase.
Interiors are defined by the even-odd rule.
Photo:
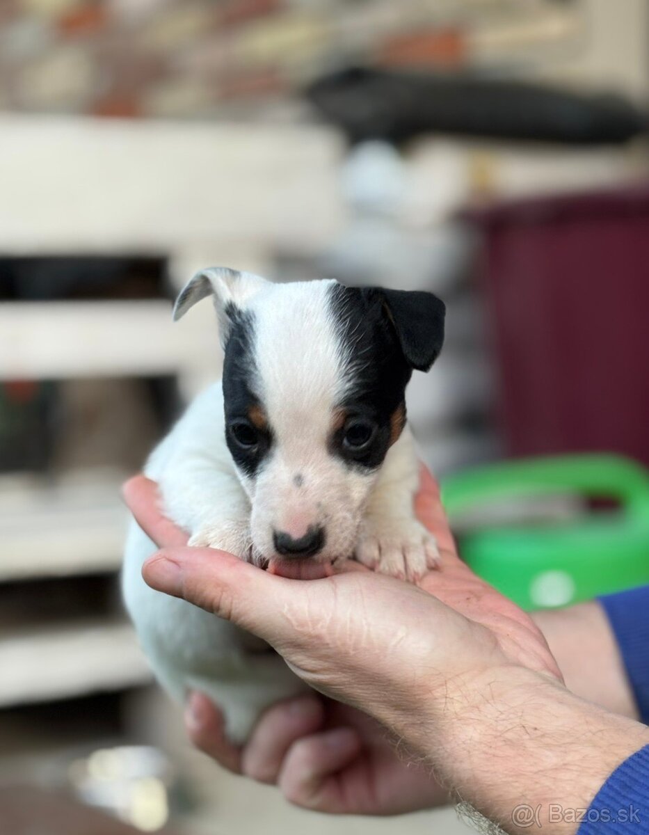
[[[163,549],[146,560],[142,575],[152,589],[213,612],[269,644],[292,634],[290,605],[309,585],[213,548]]]

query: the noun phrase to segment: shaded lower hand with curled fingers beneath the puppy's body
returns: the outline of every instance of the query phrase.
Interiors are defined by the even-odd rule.
[[[289,802],[330,814],[397,815],[449,802],[430,764],[359,710],[314,693],[271,706],[243,748],[223,716],[194,693],[185,711],[194,745],[230,771],[277,785]]]

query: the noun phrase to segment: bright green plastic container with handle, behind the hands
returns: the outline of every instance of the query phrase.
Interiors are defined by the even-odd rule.
[[[545,609],[649,584],[649,473],[612,455],[498,463],[445,478],[450,524],[489,504],[572,495],[610,498],[615,511],[585,509],[556,524],[484,527],[460,537],[460,553],[523,609]]]

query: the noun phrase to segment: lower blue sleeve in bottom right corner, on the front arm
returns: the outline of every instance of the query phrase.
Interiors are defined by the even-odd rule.
[[[577,830],[577,835],[649,833],[649,745],[611,774]]]

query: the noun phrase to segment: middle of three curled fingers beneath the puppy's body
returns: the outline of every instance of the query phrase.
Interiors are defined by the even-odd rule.
[[[277,782],[290,746],[317,731],[323,721],[324,708],[316,696],[301,696],[270,707],[244,748],[242,771],[259,782]]]

